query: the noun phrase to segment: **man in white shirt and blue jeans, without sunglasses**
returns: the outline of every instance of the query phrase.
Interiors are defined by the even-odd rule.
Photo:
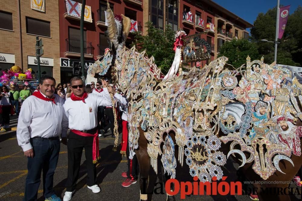
[[[40,90],[24,100],[20,111],[17,139],[27,156],[24,200],[37,200],[43,170],[45,200],[60,201],[53,190],[53,174],[59,158],[59,135],[66,137],[68,119],[64,99],[56,94],[56,80],[42,77]]]

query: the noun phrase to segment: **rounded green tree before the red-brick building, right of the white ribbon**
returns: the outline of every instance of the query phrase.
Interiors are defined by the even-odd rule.
[[[248,55],[251,60],[260,59],[256,44],[247,39],[233,39],[226,41],[220,47],[218,57],[226,56],[229,58],[228,64],[233,65],[234,68],[239,68],[246,63]]]

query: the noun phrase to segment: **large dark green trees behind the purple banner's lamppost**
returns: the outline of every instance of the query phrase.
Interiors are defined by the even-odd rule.
[[[280,6],[282,7],[282,6]],[[252,41],[256,43],[260,55],[264,55],[265,63],[274,61],[274,43],[262,42],[261,39],[275,41],[277,9],[269,9],[265,14],[259,13],[251,29]],[[279,39],[277,49],[277,63],[301,66],[302,58],[302,7],[288,17],[282,39]]]

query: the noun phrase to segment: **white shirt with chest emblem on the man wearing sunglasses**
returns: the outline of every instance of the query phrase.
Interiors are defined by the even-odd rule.
[[[104,91],[105,93],[108,93],[107,89],[104,89]],[[112,105],[111,98],[108,100],[107,98],[98,96],[94,93],[88,94],[85,103],[82,100],[73,101],[71,98],[67,99],[64,109],[69,120],[69,128],[74,130],[94,129],[98,125],[98,106],[110,105]]]

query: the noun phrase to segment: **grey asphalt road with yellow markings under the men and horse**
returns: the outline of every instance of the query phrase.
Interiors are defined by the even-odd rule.
[[[24,182],[27,175],[27,159],[16,139],[17,116],[11,119],[11,131],[0,134],[0,200],[22,200]],[[47,122],[45,122],[47,124]],[[120,135],[121,138],[121,135]],[[97,180],[101,192],[92,193],[86,186],[85,155],[82,155],[80,178],[72,200],[139,200],[139,183],[128,188],[122,187],[124,178],[120,176],[127,169],[127,160],[119,152],[113,152],[114,139],[100,137],[101,160],[97,164]],[[229,165],[232,165],[229,164]],[[234,169],[234,168],[233,168]],[[225,171],[228,171],[225,169]],[[236,170],[235,170],[236,172]],[[67,177],[67,147],[61,144],[59,162],[54,175],[54,189],[57,195],[64,196]],[[236,179],[236,174],[232,175]],[[300,198],[300,197],[299,197]],[[179,200],[180,196],[176,196]],[[43,187],[40,185],[38,200],[44,200]],[[153,200],[166,200],[165,195],[153,195]],[[250,200],[248,196],[190,196],[185,200]]]

